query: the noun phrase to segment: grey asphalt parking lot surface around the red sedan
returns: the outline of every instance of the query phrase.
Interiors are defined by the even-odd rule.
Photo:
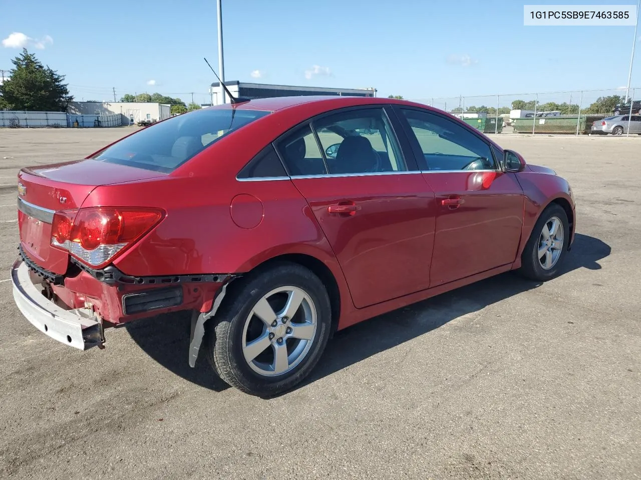
[[[203,356],[188,367],[187,317],[81,352],[13,304],[19,168],[127,132],[0,129],[0,476],[641,477],[641,137],[495,136],[570,180],[565,273],[500,275],[339,332],[302,387],[260,399]]]

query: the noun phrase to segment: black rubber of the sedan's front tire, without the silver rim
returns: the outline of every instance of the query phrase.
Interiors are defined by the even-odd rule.
[[[553,268],[546,270],[538,261],[538,239],[541,236],[544,225],[553,217],[558,217],[563,224],[563,249],[561,250],[561,254],[559,255],[558,260],[556,260],[556,264],[554,264]],[[570,224],[567,219],[567,213],[565,213],[563,207],[558,204],[552,204],[546,207],[538,218],[537,223],[532,230],[528,244],[526,245],[525,253],[527,257],[524,258],[524,268],[530,274],[528,276],[535,280],[545,281],[559,275],[560,269],[563,265],[563,259],[567,253],[570,234]]]

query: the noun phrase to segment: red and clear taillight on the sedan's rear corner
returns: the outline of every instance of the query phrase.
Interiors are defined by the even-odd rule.
[[[156,209],[92,207],[56,212],[51,245],[94,268],[111,262],[151,228],[164,213]]]

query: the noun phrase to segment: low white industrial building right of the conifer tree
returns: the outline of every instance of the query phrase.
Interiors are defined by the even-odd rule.
[[[121,115],[122,125],[141,120],[160,122],[171,116],[171,106],[153,102],[70,102],[67,113],[81,115]]]

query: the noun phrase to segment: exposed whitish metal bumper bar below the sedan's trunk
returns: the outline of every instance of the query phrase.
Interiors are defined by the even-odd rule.
[[[29,269],[20,259],[13,264],[11,279],[15,304],[40,332],[80,350],[102,346],[102,326],[89,308],[65,310],[48,300],[31,282]]]

